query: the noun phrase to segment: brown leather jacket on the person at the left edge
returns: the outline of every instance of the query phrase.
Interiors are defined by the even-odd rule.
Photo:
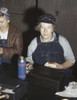
[[[9,25],[7,47],[3,47],[3,58],[11,59],[14,54],[21,55],[23,49],[22,34],[13,25]]]

